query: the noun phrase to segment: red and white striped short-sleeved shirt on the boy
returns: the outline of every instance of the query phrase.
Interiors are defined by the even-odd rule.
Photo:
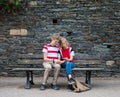
[[[45,44],[42,52],[47,53],[47,58],[58,59],[59,46],[51,46],[50,44]]]

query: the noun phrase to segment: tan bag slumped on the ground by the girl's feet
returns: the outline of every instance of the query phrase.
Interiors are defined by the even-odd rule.
[[[75,79],[75,83],[70,85],[69,88],[73,90],[74,92],[83,92],[90,90],[91,87],[83,82],[79,82],[78,80]]]

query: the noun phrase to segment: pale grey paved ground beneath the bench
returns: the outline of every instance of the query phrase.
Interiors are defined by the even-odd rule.
[[[120,78],[92,78],[92,89],[81,93],[68,90],[66,78],[58,80],[60,90],[48,87],[45,91],[40,91],[41,79],[35,77],[35,85],[31,89],[24,89],[26,80],[24,77],[0,77],[0,97],[119,97],[120,95]],[[49,78],[50,82],[51,79]]]

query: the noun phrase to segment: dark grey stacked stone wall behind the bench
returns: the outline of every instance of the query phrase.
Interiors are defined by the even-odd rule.
[[[17,15],[0,15],[0,76],[23,76],[11,71],[18,54],[41,54],[50,36],[60,33],[77,54],[101,56],[106,70],[96,76],[120,77],[119,0],[28,1]]]

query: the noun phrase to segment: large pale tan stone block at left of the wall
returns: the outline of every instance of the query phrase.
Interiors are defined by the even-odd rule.
[[[10,35],[26,36],[28,32],[26,29],[10,29]]]

